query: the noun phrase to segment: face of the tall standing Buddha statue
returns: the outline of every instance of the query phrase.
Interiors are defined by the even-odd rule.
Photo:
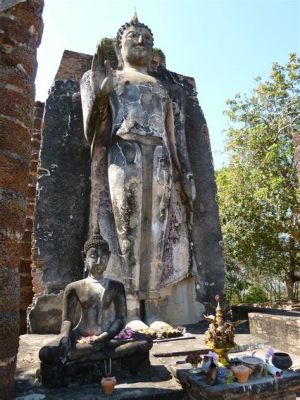
[[[152,59],[151,32],[139,25],[130,25],[122,34],[121,55],[132,66],[148,67]]]

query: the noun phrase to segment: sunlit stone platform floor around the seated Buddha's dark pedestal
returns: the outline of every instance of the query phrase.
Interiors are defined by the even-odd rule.
[[[203,332],[207,328],[205,323],[188,326],[188,332],[195,336],[194,339],[166,341],[154,343],[150,351],[151,368],[148,374],[131,379],[118,379],[112,400],[186,400],[186,394],[177,379],[172,375],[174,365],[187,368],[185,357],[187,354],[200,351],[207,352],[204,345]],[[236,335],[236,343],[239,353],[241,351],[263,357],[268,343],[258,339],[249,333],[244,327]],[[98,400],[105,399],[100,385],[73,384],[67,388],[46,389],[36,379],[36,371],[39,369],[38,352],[53,335],[22,335],[20,337],[20,349],[16,373],[15,400]],[[300,371],[300,357],[290,354],[293,360],[293,368]],[[114,374],[114,370],[112,371]],[[299,397],[300,399],[300,397]]]

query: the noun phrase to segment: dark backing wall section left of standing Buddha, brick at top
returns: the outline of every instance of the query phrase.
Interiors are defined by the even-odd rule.
[[[31,248],[34,296],[27,311],[29,332],[59,331],[62,290],[83,273],[80,251],[87,229],[82,218],[89,212],[90,150],[82,133],[78,81],[91,61],[88,54],[64,51],[45,104]]]

